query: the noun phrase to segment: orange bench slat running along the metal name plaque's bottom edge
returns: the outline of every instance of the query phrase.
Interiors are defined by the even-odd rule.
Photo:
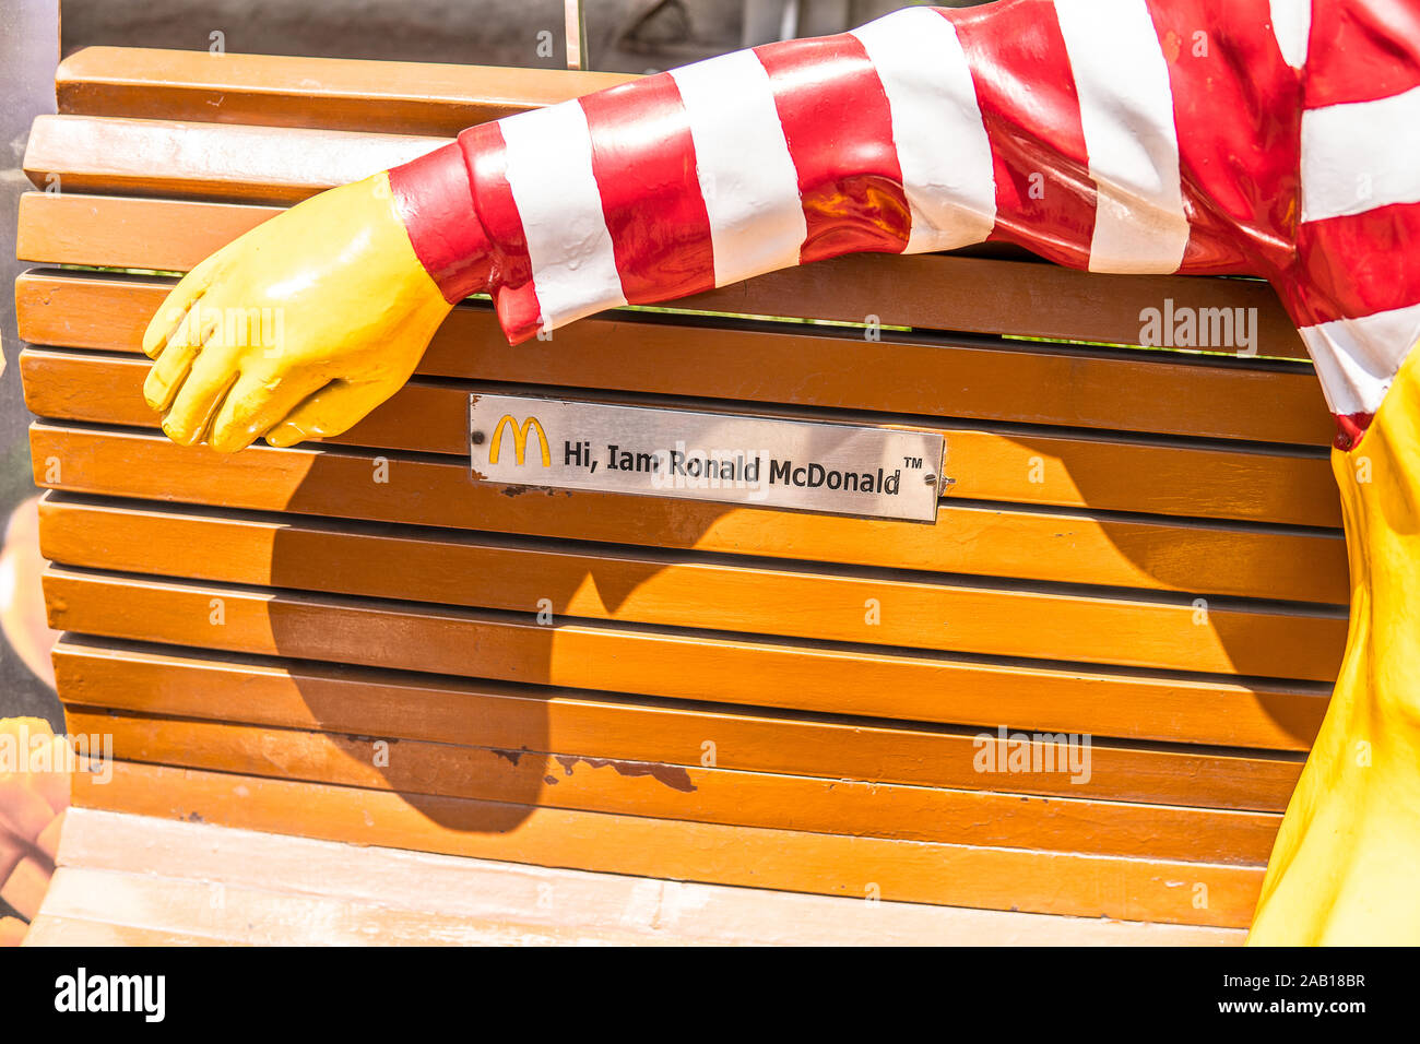
[[[37,484],[145,500],[1044,581],[1095,575],[1123,587],[1197,585],[1210,594],[1272,589],[1291,575],[1298,594],[1319,602],[1336,602],[1345,581],[1340,540],[1329,531],[1248,530],[1240,544],[1228,528],[1208,524],[1183,530],[1186,523],[1172,520],[951,501],[939,507],[936,526],[919,526],[596,493],[508,496],[507,487],[471,483],[453,463],[383,457],[381,466],[375,456],[268,447],[219,457],[162,436],[50,425],[31,428],[30,447]],[[372,482],[376,467],[398,486]],[[1284,540],[1292,535],[1295,543]],[[1291,562],[1288,553],[1296,554]],[[1311,585],[1308,568],[1318,571]]]

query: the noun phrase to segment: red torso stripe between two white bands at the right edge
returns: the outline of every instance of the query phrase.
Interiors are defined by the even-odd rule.
[[[1296,233],[1301,325],[1420,304],[1420,203],[1306,222]]]

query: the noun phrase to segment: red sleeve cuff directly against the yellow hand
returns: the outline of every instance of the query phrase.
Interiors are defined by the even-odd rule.
[[[415,256],[450,304],[484,288],[490,244],[473,209],[469,168],[454,142],[389,172]]]

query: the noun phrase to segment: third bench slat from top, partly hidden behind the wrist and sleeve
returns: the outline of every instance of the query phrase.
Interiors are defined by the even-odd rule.
[[[186,271],[280,207],[82,193],[20,197],[16,254],[47,264]],[[1267,283],[1190,276],[1106,276],[1035,261],[949,254],[853,254],[683,298],[740,315],[876,322],[980,334],[1136,344],[1139,314],[1174,307],[1252,308],[1261,355],[1305,358]]]

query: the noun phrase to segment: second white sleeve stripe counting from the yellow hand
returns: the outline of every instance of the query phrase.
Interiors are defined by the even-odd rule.
[[[734,51],[670,75],[696,145],[716,286],[798,264],[808,226],[764,65]]]

